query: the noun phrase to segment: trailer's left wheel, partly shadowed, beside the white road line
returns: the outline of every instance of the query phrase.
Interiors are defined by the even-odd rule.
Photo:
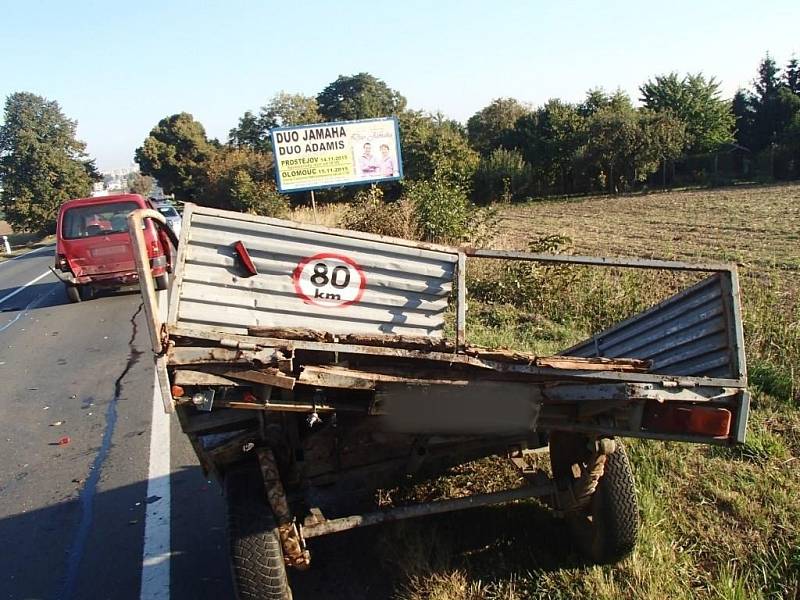
[[[261,475],[242,469],[225,476],[228,540],[239,600],[291,600],[278,528]]]

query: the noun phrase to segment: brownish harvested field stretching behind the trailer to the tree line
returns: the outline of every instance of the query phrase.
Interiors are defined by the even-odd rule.
[[[505,242],[518,248],[560,233],[577,253],[800,270],[798,185],[531,203],[505,211],[502,225]]]

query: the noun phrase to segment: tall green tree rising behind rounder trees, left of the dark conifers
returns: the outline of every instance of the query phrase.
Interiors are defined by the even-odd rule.
[[[642,103],[655,112],[670,112],[686,127],[685,151],[713,152],[734,140],[736,117],[729,102],[721,98],[719,82],[698,73],[678,77],[657,76],[639,88]]]

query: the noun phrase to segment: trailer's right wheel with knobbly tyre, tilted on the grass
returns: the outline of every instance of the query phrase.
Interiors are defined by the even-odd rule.
[[[571,467],[586,465],[586,439],[559,432],[550,440],[553,474],[570,476]],[[639,506],[628,455],[617,449],[606,456],[603,476],[589,505],[567,514],[567,523],[581,553],[598,564],[618,562],[633,551],[639,535]]]

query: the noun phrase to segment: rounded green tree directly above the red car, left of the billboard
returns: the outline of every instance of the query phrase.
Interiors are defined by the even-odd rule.
[[[155,177],[166,193],[196,202],[205,165],[218,150],[200,122],[182,112],[159,121],[136,149],[135,160],[142,175]]]

